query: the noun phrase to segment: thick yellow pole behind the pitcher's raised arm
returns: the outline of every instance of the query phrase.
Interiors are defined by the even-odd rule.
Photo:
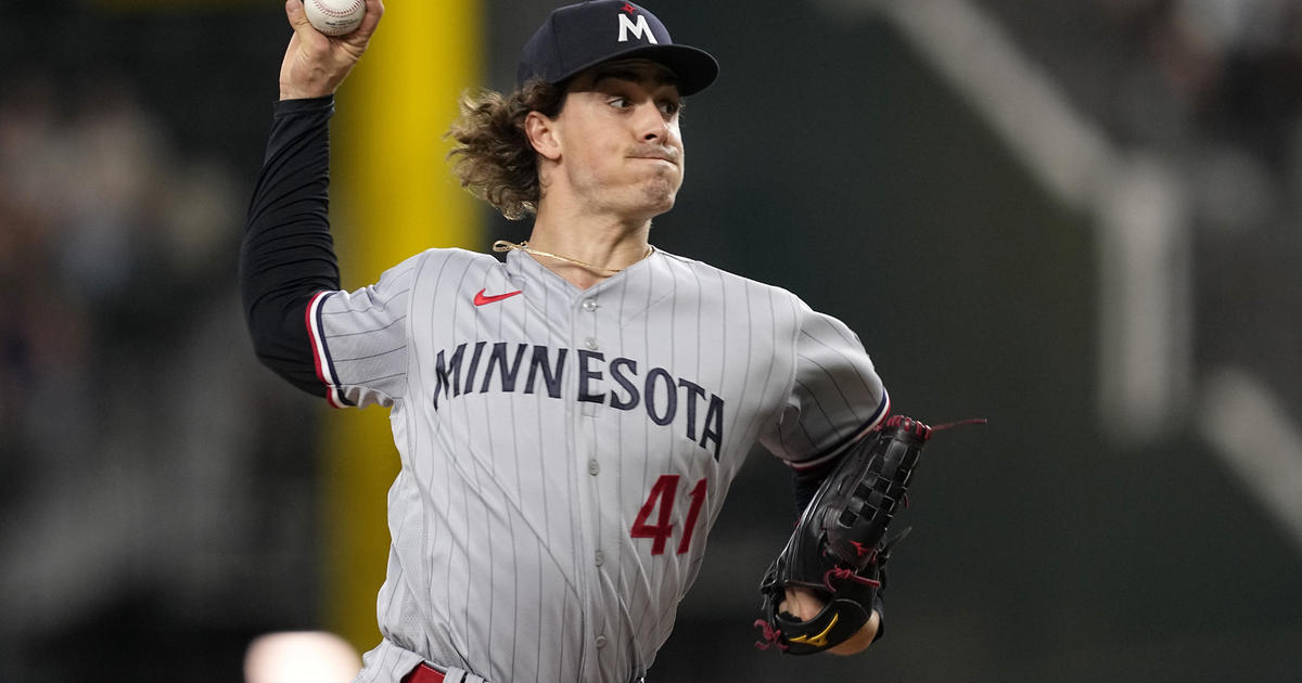
[[[475,242],[474,199],[444,161],[457,98],[480,83],[479,0],[388,0],[361,64],[336,98],[331,221],[344,286],[357,289],[428,247]],[[385,492],[398,470],[383,408],[326,420],[323,480],[327,626],[367,650],[389,533]]]

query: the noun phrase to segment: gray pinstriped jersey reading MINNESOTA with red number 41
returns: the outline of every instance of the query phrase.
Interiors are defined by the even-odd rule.
[[[319,294],[309,328],[332,403],[388,406],[402,459],[362,682],[422,658],[635,680],[751,446],[809,466],[888,410],[844,324],[661,251],[579,290],[521,252],[430,250]]]

